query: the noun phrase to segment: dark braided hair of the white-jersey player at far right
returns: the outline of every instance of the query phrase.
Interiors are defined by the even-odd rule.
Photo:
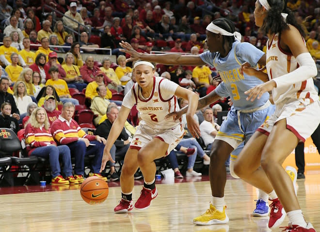
[[[260,7],[262,5],[258,2]],[[292,11],[287,8],[287,0],[268,0],[271,9],[268,11],[268,15],[263,20],[263,25],[261,30],[265,34],[268,33],[281,33],[283,30],[288,30],[288,24],[296,27],[298,31],[305,36],[305,31],[303,27],[297,23]],[[288,14],[287,20],[283,19],[281,13]]]

